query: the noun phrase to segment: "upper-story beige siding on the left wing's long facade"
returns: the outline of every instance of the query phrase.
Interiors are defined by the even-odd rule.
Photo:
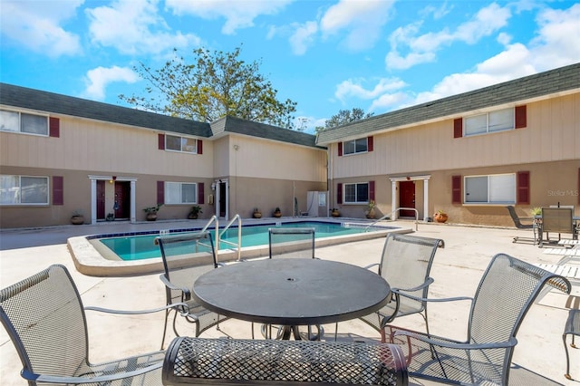
[[[213,176],[213,146],[204,140],[203,154],[158,149],[153,130],[106,122],[61,118],[60,138],[0,133],[5,166],[99,170],[112,174]]]

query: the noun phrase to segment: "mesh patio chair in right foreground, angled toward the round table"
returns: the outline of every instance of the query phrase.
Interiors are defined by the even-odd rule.
[[[496,255],[475,296],[467,298],[472,302],[465,342],[387,326],[389,341],[401,344],[412,377],[507,385],[517,330],[545,285],[568,294],[571,288],[562,276],[512,256]]]

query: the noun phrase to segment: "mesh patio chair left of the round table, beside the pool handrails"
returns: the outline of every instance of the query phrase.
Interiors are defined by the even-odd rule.
[[[210,312],[191,296],[196,279],[206,272],[218,267],[216,249],[211,234],[190,232],[169,236],[155,237],[155,243],[160,246],[164,273],[160,279],[165,285],[167,304],[183,302],[188,304],[189,313],[186,320],[195,324],[195,336],[199,336],[210,327],[226,319],[223,315]],[[177,331],[177,315],[184,310],[177,306],[173,317],[173,331]],[[167,322],[170,310],[165,314],[162,343],[165,342]]]

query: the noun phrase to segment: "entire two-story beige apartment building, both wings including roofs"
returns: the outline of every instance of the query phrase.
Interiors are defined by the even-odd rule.
[[[0,227],[285,216],[307,192],[364,217],[511,226],[506,205],[580,215],[580,63],[356,121],[317,137],[183,120],[0,83]],[[327,213],[324,213],[327,215]]]

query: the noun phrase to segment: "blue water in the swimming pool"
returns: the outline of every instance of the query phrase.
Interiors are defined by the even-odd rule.
[[[353,235],[364,232],[360,227],[343,227],[338,223],[324,223],[316,221],[303,221],[294,223],[285,223],[281,226],[274,224],[262,226],[244,226],[242,227],[242,247],[246,246],[264,246],[268,244],[268,228],[270,227],[314,227],[316,238]],[[384,230],[389,227],[380,227]],[[196,229],[187,229],[194,231]],[[181,231],[180,231],[181,232]],[[220,231],[221,232],[221,231]],[[178,232],[171,232],[175,234]],[[214,232],[212,232],[213,235]],[[98,238],[105,246],[109,247],[122,260],[142,260],[153,257],[160,257],[160,248],[154,243],[155,237],[160,236],[160,232],[150,233],[147,235],[131,236],[114,236]],[[226,240],[237,243],[237,227],[229,228],[220,240]],[[231,245],[220,243],[219,249],[228,249]]]

